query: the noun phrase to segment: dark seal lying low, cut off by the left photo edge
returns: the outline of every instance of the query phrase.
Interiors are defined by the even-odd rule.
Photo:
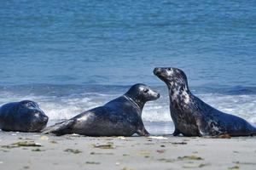
[[[30,100],[8,103],[0,108],[0,128],[3,131],[40,132],[47,122],[48,116]]]

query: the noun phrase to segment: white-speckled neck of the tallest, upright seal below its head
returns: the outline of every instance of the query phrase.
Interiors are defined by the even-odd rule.
[[[175,87],[172,88],[168,86],[169,94],[170,94],[170,101],[172,104],[178,103],[183,105],[188,105],[190,100],[190,91],[189,88],[186,86],[184,87]]]

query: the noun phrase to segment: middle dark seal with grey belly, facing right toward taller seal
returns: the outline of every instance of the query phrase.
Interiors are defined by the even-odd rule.
[[[78,116],[46,127],[43,133],[63,135],[78,133],[86,136],[131,136],[137,133],[147,136],[142,120],[143,106],[147,101],[155,100],[160,94],[144,84],[133,85],[126,94],[117,99],[84,111]]]

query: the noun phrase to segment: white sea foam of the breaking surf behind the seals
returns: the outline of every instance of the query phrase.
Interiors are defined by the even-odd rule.
[[[118,97],[118,94],[81,94],[73,97],[15,95],[9,93],[0,94],[0,105],[4,103],[31,99],[40,105],[50,120],[68,119],[83,111],[96,106],[104,105],[109,100]],[[236,116],[241,116],[248,122],[256,123],[256,95],[225,95],[225,94],[198,94],[197,97],[212,105],[219,111],[224,111]],[[172,122],[169,110],[168,96],[159,100],[148,102],[143,109],[143,121],[145,122]]]

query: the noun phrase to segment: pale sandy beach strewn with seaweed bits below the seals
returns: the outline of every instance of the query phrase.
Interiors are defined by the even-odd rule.
[[[0,132],[0,169],[255,169],[255,140]]]

